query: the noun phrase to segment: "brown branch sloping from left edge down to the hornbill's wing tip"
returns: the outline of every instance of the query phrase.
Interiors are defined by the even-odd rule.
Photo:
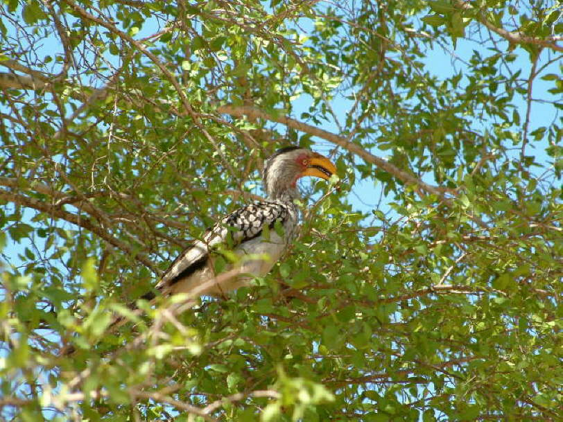
[[[60,209],[51,204],[47,204],[46,202],[35,200],[31,197],[26,197],[24,195],[11,193],[1,189],[0,189],[0,199],[15,202],[23,206],[28,206],[29,208],[36,209],[37,211],[41,211],[43,213],[48,213],[53,217],[60,218],[62,220],[71,222],[74,225],[82,227],[83,229],[87,229],[88,231],[91,231],[92,233],[96,234],[97,236],[105,240],[107,243],[110,243],[110,245],[113,245],[114,247],[121,249],[123,252],[132,256],[132,258],[135,258],[140,263],[143,263],[151,270],[153,270],[155,274],[160,273],[159,270],[157,269],[156,264],[153,263],[153,261],[150,261],[150,259],[148,258],[148,256],[146,256],[146,254],[143,254],[142,252],[136,252],[133,247],[131,247],[127,243],[123,243],[119,239],[114,238],[114,236],[109,234],[102,227],[95,225],[94,222],[92,222],[92,220],[90,220],[87,217],[77,216],[76,214],[69,213],[68,211],[64,211],[63,209]]]

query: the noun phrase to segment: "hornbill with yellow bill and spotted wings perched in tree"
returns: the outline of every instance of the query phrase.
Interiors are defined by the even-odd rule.
[[[334,164],[316,152],[295,146],[277,150],[264,164],[266,200],[222,218],[175,259],[155,288],[165,295],[221,296],[248,285],[254,276],[268,274],[297,233],[297,179],[329,179],[335,173]],[[237,257],[238,263],[223,277],[215,272],[215,249],[230,249]],[[153,297],[151,292],[144,299]]]

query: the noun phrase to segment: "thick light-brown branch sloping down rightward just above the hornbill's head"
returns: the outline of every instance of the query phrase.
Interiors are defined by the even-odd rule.
[[[285,116],[284,114],[279,114],[277,116],[270,116],[270,114],[264,112],[263,110],[257,107],[250,107],[250,106],[233,106],[233,105],[223,105],[218,108],[218,112],[230,114],[231,116],[235,117],[242,117],[242,116],[250,116],[254,118],[263,118],[269,121],[275,121],[277,123],[282,123],[287,125],[290,128],[300,130],[302,132],[309,133],[315,137],[319,137],[322,139],[326,139],[327,141],[334,143],[338,146],[341,146],[345,150],[352,152],[353,154],[362,157],[362,159],[370,164],[374,164],[375,166],[381,168],[381,170],[385,170],[387,173],[397,177],[397,179],[401,180],[404,184],[412,184],[422,188],[424,191],[428,193],[433,193],[434,195],[443,196],[445,192],[449,191],[444,188],[440,188],[438,186],[432,186],[430,184],[426,184],[422,182],[422,180],[417,179],[413,175],[410,175],[404,170],[401,170],[394,164],[391,164],[384,159],[376,157],[370,152],[367,152],[361,146],[356,145],[350,141],[347,141],[345,137],[340,137],[337,134],[328,132],[327,130],[315,128],[315,126],[308,125],[307,123],[302,123],[300,121],[295,120],[294,118],[290,118]]]

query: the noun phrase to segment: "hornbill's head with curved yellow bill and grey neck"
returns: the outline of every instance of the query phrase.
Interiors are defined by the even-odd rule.
[[[300,147],[281,148],[264,164],[264,189],[270,199],[297,197],[297,179],[304,176],[330,179],[336,167],[323,155]]]

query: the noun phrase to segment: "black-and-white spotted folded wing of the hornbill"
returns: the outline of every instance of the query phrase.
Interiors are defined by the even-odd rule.
[[[196,240],[184,249],[164,272],[155,288],[162,291],[205,267],[209,250],[214,246],[240,245],[260,236],[264,227],[271,229],[277,221],[283,224],[287,216],[287,207],[277,202],[254,202],[237,209],[207,230],[202,240]]]

